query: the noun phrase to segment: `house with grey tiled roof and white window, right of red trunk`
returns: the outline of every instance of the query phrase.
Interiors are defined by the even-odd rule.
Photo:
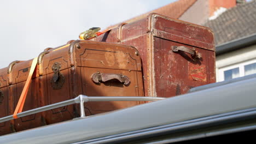
[[[205,26],[214,32],[217,81],[256,73],[256,1],[230,8]]]

